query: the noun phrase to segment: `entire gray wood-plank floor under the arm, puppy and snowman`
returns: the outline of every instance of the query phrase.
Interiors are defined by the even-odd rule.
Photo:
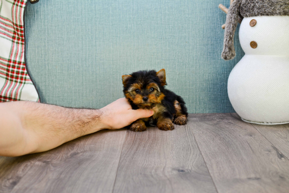
[[[0,192],[289,192],[289,124],[190,114],[174,131],[103,130],[0,157]]]

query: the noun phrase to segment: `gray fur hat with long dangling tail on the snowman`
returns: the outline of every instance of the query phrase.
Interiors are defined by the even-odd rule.
[[[254,16],[289,15],[289,0],[234,0],[227,18],[222,59],[231,60],[236,56],[234,34],[238,18]]]

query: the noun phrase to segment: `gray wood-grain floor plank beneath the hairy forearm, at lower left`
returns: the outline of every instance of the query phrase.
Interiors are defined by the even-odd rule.
[[[112,192],[125,135],[125,129],[103,130],[48,152],[30,155],[31,159],[38,158],[34,163],[30,159],[19,163],[31,162],[33,166],[19,181],[11,182],[14,186],[11,192]],[[8,162],[9,158],[2,165],[10,167]],[[21,173],[16,169],[12,171]],[[10,176],[4,175],[7,177],[1,182],[8,181]]]

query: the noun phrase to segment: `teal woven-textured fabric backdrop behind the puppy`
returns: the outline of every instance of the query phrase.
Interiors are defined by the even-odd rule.
[[[40,0],[25,14],[28,70],[44,103],[101,108],[121,75],[165,68],[190,113],[234,112],[227,80],[244,55],[221,59],[229,0]]]

